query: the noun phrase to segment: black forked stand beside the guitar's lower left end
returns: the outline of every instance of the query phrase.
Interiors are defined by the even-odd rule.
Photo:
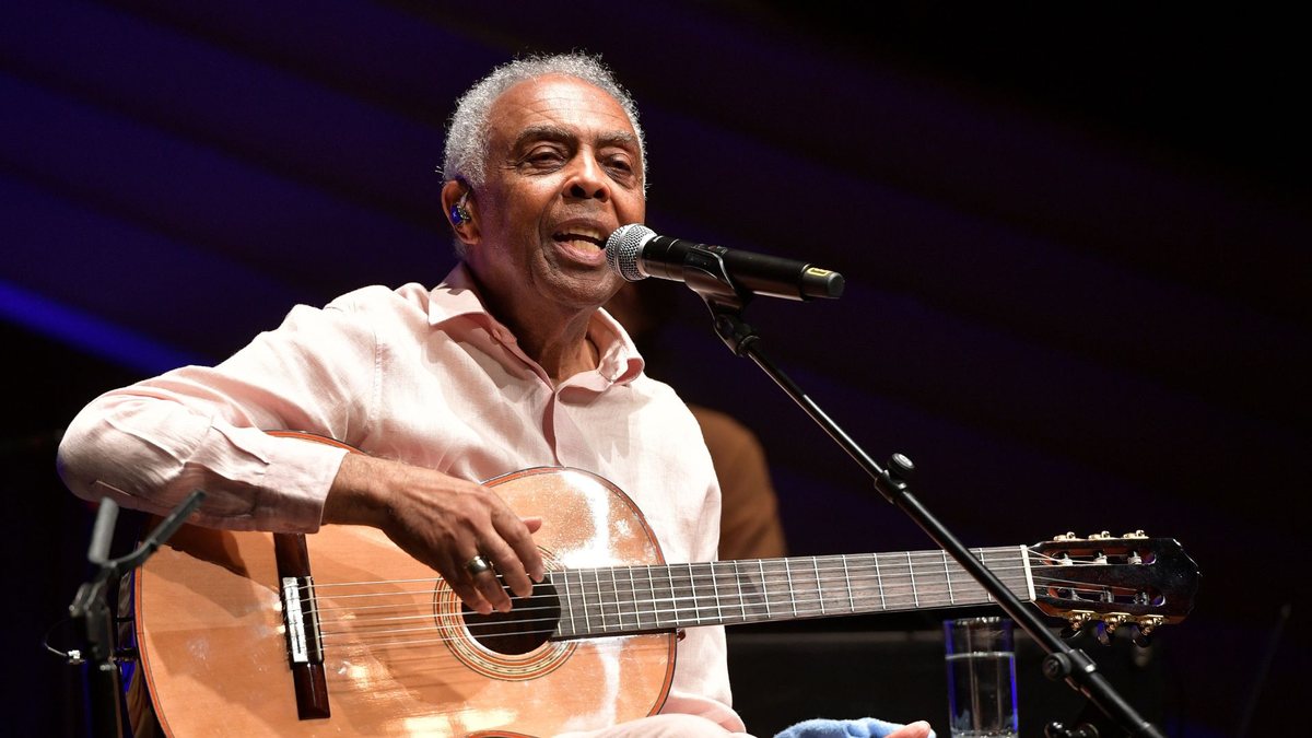
[[[133,553],[109,558],[109,544],[118,519],[118,503],[109,498],[100,502],[92,528],[87,561],[97,566],[96,575],[83,583],[68,605],[68,615],[83,638],[83,650],[70,654],[70,663],[88,663],[87,691],[91,703],[91,734],[97,738],[123,735],[123,687],[118,671],[114,640],[114,616],[109,607],[108,586],[126,571],[140,566],[205,499],[194,490],[136,546]],[[85,659],[83,658],[85,654]]]

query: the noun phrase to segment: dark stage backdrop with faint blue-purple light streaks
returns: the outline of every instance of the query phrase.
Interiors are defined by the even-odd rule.
[[[1094,655],[1130,664],[1118,682],[1170,735],[1284,734],[1309,655],[1308,62],[1292,16],[1211,13],[5,3],[16,734],[83,730],[77,675],[41,646],[89,524],[54,474],[63,424],[293,303],[437,282],[454,97],[517,53],[568,49],[601,53],[642,105],[657,232],[848,277],[838,302],[749,318],[854,437],[912,456],[920,496],[970,545],[1179,538],[1203,571],[1194,615],[1143,663]],[[664,378],[760,435],[794,553],[929,548],[676,289]],[[941,617],[736,633],[749,725],[942,727]],[[1073,717],[1061,700],[1022,683],[1029,735]]]

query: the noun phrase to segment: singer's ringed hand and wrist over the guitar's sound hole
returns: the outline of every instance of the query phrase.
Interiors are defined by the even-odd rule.
[[[546,575],[533,542],[541,519],[521,519],[493,490],[432,469],[349,453],[328,491],[323,521],[380,529],[483,615],[510,609],[496,574],[521,597]],[[478,555],[495,571],[471,574],[467,563]]]

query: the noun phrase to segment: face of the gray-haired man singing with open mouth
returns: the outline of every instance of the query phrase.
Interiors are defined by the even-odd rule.
[[[492,105],[487,181],[474,193],[467,261],[501,309],[596,307],[621,277],[602,251],[646,215],[638,137],[601,89],[564,76],[521,83]]]

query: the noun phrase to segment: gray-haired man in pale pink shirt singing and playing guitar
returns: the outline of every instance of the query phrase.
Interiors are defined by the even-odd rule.
[[[646,213],[628,95],[583,55],[497,68],[459,101],[445,176],[461,264],[441,285],[299,306],[215,368],[97,398],[60,446],[68,486],[152,512],[202,487],[195,520],[213,528],[374,527],[483,615],[512,609],[497,574],[521,597],[546,575],[533,536],[554,523],[479,483],[516,469],[600,474],[632,496],[668,561],[714,558],[719,490],[689,440],[697,423],[598,310],[619,286],[605,239]],[[278,428],[365,453],[264,432]],[[722,629],[678,642],[661,714],[585,727],[743,731]]]

